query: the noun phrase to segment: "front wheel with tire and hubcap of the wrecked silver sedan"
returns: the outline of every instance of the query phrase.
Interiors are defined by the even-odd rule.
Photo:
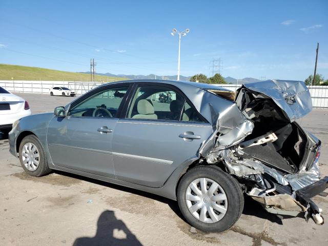
[[[20,142],[19,161],[24,171],[31,176],[44,176],[51,171],[45,150],[34,135],[28,135]]]

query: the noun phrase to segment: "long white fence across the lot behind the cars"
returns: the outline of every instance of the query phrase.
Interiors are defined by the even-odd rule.
[[[74,90],[76,94],[84,94],[87,91],[103,84],[106,83],[79,81],[0,80],[0,86],[6,90],[22,93],[49,93],[50,88],[54,86],[63,86]],[[236,91],[241,85],[224,84],[217,86]],[[328,109],[328,86],[309,86],[308,88],[312,97],[313,107]]]

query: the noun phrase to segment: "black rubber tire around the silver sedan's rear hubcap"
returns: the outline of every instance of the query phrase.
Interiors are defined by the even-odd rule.
[[[217,222],[202,222],[194,217],[188,209],[186,203],[187,188],[197,178],[212,179],[226,193],[228,200],[227,212]],[[186,220],[191,226],[203,232],[223,232],[228,230],[239,219],[244,207],[244,197],[238,181],[216,166],[198,166],[183,175],[177,189],[177,200],[180,211]]]

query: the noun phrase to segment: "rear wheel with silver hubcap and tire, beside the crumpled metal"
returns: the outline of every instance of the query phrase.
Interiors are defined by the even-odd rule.
[[[177,199],[182,215],[203,232],[228,230],[244,205],[237,180],[216,166],[198,166],[187,172],[179,182]]]

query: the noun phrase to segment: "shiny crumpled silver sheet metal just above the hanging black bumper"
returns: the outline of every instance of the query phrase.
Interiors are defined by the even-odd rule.
[[[312,183],[320,180],[319,162],[314,162],[309,171],[299,172],[297,174],[288,174],[284,177],[288,180],[294,191],[310,186]]]

